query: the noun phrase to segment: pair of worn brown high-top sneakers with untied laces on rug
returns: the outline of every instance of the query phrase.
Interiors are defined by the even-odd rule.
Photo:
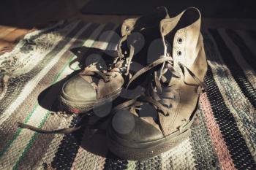
[[[91,63],[72,77],[62,88],[61,106],[77,114],[106,112],[108,147],[121,158],[143,160],[175,147],[189,136],[205,88],[200,20],[194,7],[174,18],[159,7],[124,20],[113,63],[108,69]]]

